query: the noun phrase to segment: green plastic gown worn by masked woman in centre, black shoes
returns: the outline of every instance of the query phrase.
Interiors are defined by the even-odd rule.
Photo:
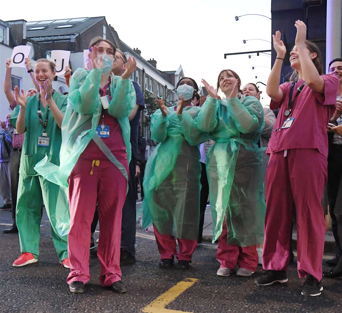
[[[147,160],[144,176],[143,228],[152,223],[160,234],[197,240],[200,199],[199,144],[209,139],[197,127],[199,107],[175,107],[151,117],[151,139],[159,144]]]

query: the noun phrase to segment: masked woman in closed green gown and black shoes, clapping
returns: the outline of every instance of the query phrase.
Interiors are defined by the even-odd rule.
[[[188,269],[197,246],[200,200],[199,144],[208,133],[198,129],[200,108],[192,105],[198,86],[188,77],[177,83],[177,106],[158,100],[151,117],[151,139],[159,142],[147,160],[144,176],[143,229],[153,223],[160,268]],[[176,251],[176,238],[179,252]]]

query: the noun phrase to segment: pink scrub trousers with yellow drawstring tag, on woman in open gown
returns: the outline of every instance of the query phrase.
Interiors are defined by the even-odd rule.
[[[104,156],[104,155],[103,155]],[[128,173],[128,161],[118,159]],[[92,170],[92,174],[90,174]],[[100,282],[109,287],[121,279],[120,240],[122,207],[126,198],[127,180],[108,159],[78,159],[69,177],[70,232],[68,253],[70,273],[67,283],[89,282],[90,228],[97,204],[100,222],[97,256],[100,261]]]

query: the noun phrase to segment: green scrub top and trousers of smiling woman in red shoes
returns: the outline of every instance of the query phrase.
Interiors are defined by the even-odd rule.
[[[62,261],[68,257],[67,235],[62,231],[68,226],[58,222],[58,214],[62,214],[64,219],[70,219],[68,199],[63,190],[61,192],[60,186],[47,181],[34,170],[35,164],[44,157],[59,165],[62,134],[52,113],[49,112],[48,125],[45,132],[50,138],[50,145],[49,147],[37,145],[38,137],[43,133],[43,126],[39,122],[37,113],[39,96],[37,94],[29,97],[26,104],[26,133],[19,168],[16,223],[19,230],[21,252],[30,252],[35,258],[38,258],[41,220],[40,209],[43,199],[51,224],[53,244],[56,248],[58,258]],[[55,91],[52,98],[64,114],[67,97]],[[19,108],[19,105],[17,105],[13,111],[11,116],[12,125],[16,125]],[[45,116],[48,113],[48,106],[44,108],[41,105],[40,110],[42,111],[42,118],[45,120]],[[57,212],[59,213],[57,214]]]

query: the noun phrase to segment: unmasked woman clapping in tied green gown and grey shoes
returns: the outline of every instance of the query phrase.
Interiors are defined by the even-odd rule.
[[[209,198],[214,223],[213,242],[219,239],[216,258],[219,276],[250,276],[258,266],[256,245],[263,242],[265,199],[258,141],[264,128],[259,100],[240,95],[239,76],[222,70],[217,89],[203,79],[210,97],[201,107],[198,126],[215,141],[207,154]],[[218,99],[221,88],[225,97]]]

